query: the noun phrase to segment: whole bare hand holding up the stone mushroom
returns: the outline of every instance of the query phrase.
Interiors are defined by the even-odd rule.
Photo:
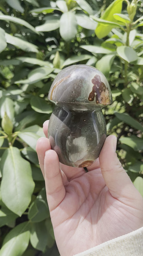
[[[48,122],[43,125],[47,136]],[[57,247],[73,256],[143,226],[143,198],[124,171],[116,137],[106,138],[99,159],[87,167],[59,163],[48,138],[37,141]]]

